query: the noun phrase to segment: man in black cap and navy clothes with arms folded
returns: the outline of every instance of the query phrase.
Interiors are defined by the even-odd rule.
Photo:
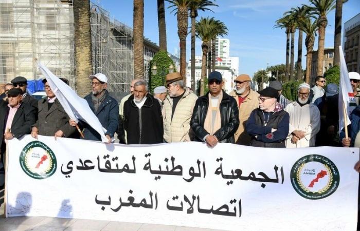
[[[285,147],[289,133],[289,113],[277,102],[279,93],[271,87],[259,91],[259,108],[251,112],[245,129],[251,136],[250,146]]]

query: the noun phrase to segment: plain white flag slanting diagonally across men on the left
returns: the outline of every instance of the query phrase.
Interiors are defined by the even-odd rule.
[[[38,67],[70,119],[75,120],[77,123],[79,120],[86,122],[100,134],[102,142],[107,142],[107,138],[105,137],[106,129],[102,127],[87,101],[79,97],[70,86],[60,80],[40,62],[38,62]]]

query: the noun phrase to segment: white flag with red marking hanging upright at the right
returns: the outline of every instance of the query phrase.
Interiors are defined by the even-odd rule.
[[[345,127],[351,124],[349,115],[353,108],[350,103],[354,103],[354,92],[350,83],[348,68],[345,63],[343,48],[338,47],[340,54],[340,85],[339,85],[339,133]],[[344,114],[344,106],[346,114]],[[345,118],[347,123],[345,124]]]

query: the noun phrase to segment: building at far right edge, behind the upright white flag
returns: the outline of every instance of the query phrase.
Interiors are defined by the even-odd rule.
[[[344,52],[348,71],[360,72],[360,13],[344,24]]]

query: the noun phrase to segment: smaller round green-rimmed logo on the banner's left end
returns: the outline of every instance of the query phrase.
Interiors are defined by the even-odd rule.
[[[20,154],[20,166],[34,179],[45,179],[56,171],[57,162],[53,151],[43,142],[28,143]]]

